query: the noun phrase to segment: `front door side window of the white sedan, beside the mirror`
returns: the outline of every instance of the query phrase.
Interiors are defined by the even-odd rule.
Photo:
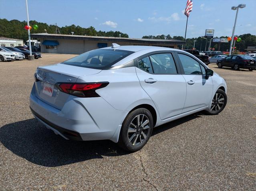
[[[198,61],[184,54],[178,55],[185,74],[202,74]]]

